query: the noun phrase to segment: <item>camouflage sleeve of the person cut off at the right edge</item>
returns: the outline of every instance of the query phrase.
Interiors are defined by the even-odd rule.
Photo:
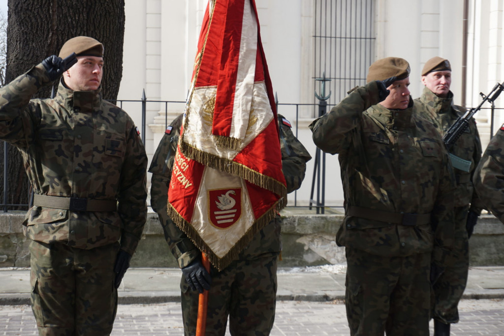
[[[473,182],[486,208],[504,223],[504,125],[488,143],[474,171]]]

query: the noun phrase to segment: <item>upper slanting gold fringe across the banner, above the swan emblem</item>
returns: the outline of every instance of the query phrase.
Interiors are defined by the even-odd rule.
[[[181,135],[181,138],[183,138],[183,133]],[[203,152],[198,148],[187,144],[183,141],[183,139],[179,141],[179,148],[185,155],[185,157],[189,159],[195,160],[204,165],[208,165],[209,167],[218,171],[237,176],[243,180],[250,182],[251,184],[274,192],[280,197],[287,196],[287,188],[283,183],[269,176],[256,172],[241,163],[230,161],[217,155]]]

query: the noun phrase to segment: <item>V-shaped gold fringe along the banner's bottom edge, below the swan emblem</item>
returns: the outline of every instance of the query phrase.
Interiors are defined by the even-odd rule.
[[[212,249],[205,243],[205,241],[200,237],[198,232],[191,226],[191,223],[187,222],[174,207],[171,206],[168,201],[167,212],[171,217],[176,226],[182,230],[189,239],[196,245],[196,247],[203,253],[207,254],[208,259],[219,271],[226,268],[238,254],[250,243],[254,236],[261,231],[273,218],[277,212],[280,212],[285,205],[287,205],[287,198],[280,198],[270,210],[266,211],[260,218],[256,220],[254,225],[252,225],[248,231],[240,238],[236,244],[229,249],[226,255],[219,258]]]

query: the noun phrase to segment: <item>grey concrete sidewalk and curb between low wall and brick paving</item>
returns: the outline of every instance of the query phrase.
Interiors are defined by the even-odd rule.
[[[277,300],[344,301],[346,275],[341,267],[333,267],[337,271],[279,269]],[[121,305],[180,302],[180,276],[176,268],[132,268],[119,287],[118,302]],[[0,305],[29,305],[29,279],[27,268],[0,268]],[[504,299],[504,267],[470,267],[462,299]]]

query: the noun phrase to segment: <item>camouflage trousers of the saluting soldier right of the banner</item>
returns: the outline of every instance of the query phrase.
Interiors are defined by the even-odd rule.
[[[350,334],[428,336],[430,253],[384,257],[345,251]]]

